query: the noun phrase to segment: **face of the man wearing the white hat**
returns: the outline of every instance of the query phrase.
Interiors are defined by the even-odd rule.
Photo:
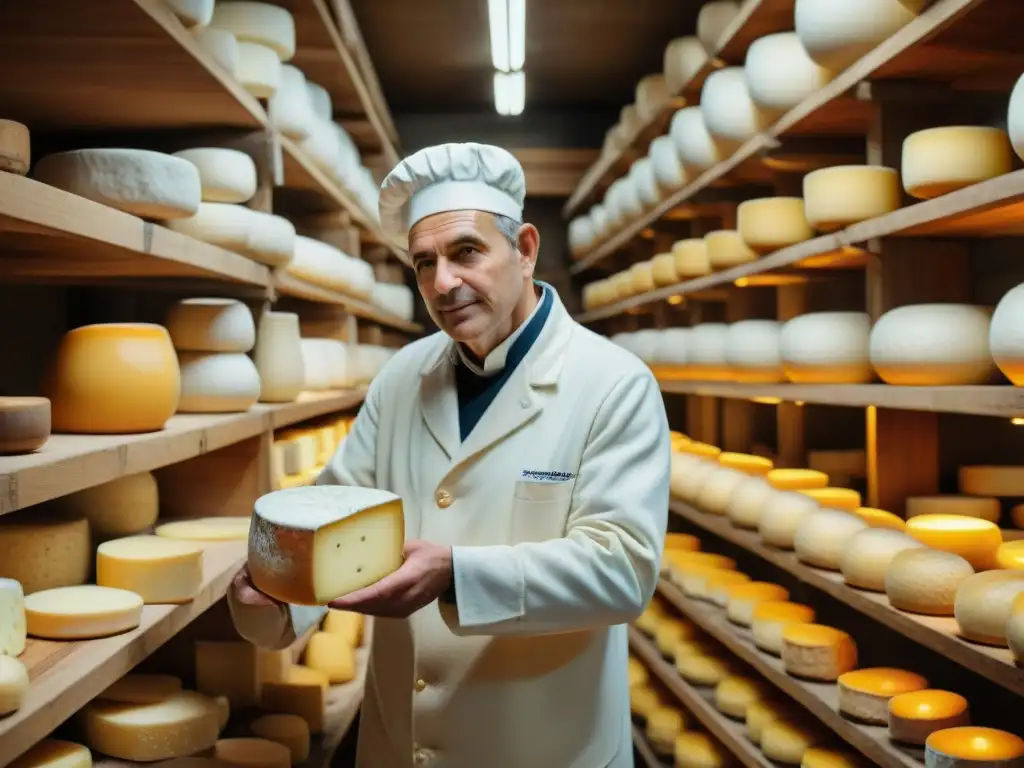
[[[418,221],[409,254],[430,316],[462,343],[499,331],[534,273],[532,261],[512,247],[494,216],[479,211]]]

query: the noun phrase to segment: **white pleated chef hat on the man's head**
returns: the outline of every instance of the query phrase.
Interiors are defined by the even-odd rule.
[[[402,242],[420,219],[445,211],[486,211],[520,221],[526,177],[511,153],[476,143],[420,150],[381,184],[384,233]]]

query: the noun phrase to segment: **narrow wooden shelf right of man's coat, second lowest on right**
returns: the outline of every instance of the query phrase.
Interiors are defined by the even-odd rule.
[[[730,720],[715,709],[714,689],[700,691],[687,683],[676,669],[662,657],[657,648],[635,627],[629,628],[630,650],[644,667],[662,681],[680,703],[717,738],[726,750],[748,768],[771,768],[770,760],[746,737],[742,723]]]

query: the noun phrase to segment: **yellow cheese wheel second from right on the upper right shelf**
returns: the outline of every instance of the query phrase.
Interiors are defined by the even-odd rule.
[[[844,165],[804,176],[807,223],[830,232],[900,207],[899,174],[893,168]]]

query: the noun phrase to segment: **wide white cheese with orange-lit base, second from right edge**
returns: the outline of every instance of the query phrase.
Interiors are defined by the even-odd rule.
[[[982,384],[994,371],[989,313],[969,304],[913,304],[883,314],[871,329],[871,365],[887,384]]]

